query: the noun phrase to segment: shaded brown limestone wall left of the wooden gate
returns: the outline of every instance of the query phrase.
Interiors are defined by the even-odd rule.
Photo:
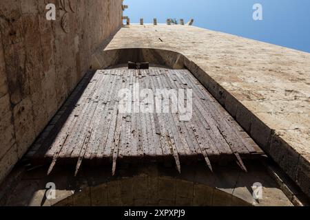
[[[45,5],[56,5],[56,21]],[[121,26],[121,0],[0,1],[0,181]]]

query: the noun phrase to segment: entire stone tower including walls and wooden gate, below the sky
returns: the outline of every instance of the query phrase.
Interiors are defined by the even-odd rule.
[[[48,21],[43,0],[0,1],[1,205],[307,204],[310,54],[55,3]],[[135,83],[192,89],[192,120],[120,113]]]

